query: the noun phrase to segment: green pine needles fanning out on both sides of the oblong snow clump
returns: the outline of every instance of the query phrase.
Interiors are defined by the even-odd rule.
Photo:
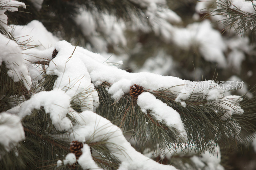
[[[150,115],[150,111],[148,111],[147,115],[142,113],[136,104],[136,100],[133,100],[128,94],[125,94],[118,103],[115,102],[105,90],[106,86],[109,86],[109,84],[105,83],[97,87],[101,101],[97,110],[98,114],[111,120],[117,126],[127,131],[132,131],[138,148],[143,148],[143,144],[149,142],[148,138],[151,139],[151,149],[156,149],[156,144],[160,144],[160,150],[161,146],[164,148],[164,146],[168,147],[173,143],[178,144],[176,140],[178,133],[175,135],[175,131],[168,130],[164,124],[162,125],[154,120]],[[183,107],[179,102],[175,101],[176,95],[171,89],[148,91],[180,113],[188,133],[187,146],[193,144],[196,151],[202,152],[209,148],[211,151],[212,146],[217,143],[232,143],[227,146],[229,149],[233,149],[232,147],[234,146],[238,147],[242,141],[246,143],[245,137],[237,128],[241,126],[244,130],[254,129],[253,124],[248,122],[255,118],[254,114],[246,112],[223,120],[222,117],[227,110],[221,104],[224,103],[236,110],[235,107],[228,103],[228,100],[231,99],[206,100],[205,95],[196,93],[192,94],[188,100],[184,100],[186,107]],[[252,107],[253,102],[248,105]],[[157,136],[158,140],[154,140],[156,136],[151,136],[152,134],[161,135]]]

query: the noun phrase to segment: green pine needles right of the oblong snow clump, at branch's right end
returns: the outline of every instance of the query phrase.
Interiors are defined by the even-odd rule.
[[[160,90],[161,94],[164,93],[164,98],[159,96],[159,92],[156,92],[156,94],[161,101],[180,113],[185,129],[188,132],[188,144],[193,143],[195,150],[202,151],[209,147],[211,148],[212,145],[216,145],[217,143],[229,142],[229,144],[233,143],[236,146],[237,144],[239,145],[241,141],[247,143],[243,135],[237,131],[236,124],[238,123],[243,129],[254,129],[254,125],[248,123],[249,120],[255,118],[254,114],[246,112],[232,115],[232,118],[223,120],[221,117],[226,110],[220,103],[225,103],[225,99],[222,100],[220,98],[220,101],[209,101],[205,100],[202,94],[192,94],[190,99],[184,100],[186,107],[182,107],[173,100],[173,94],[170,90],[171,89]],[[153,92],[153,94],[155,94],[155,92]],[[166,97],[168,94],[171,94],[171,97]],[[230,104],[226,103],[226,105],[229,106]],[[253,106],[254,103],[250,102],[249,105]],[[247,127],[244,127],[244,125],[247,125]],[[227,129],[226,127],[229,128]],[[212,143],[212,139],[215,141],[214,144]],[[229,149],[232,149],[232,147],[229,147]]]

